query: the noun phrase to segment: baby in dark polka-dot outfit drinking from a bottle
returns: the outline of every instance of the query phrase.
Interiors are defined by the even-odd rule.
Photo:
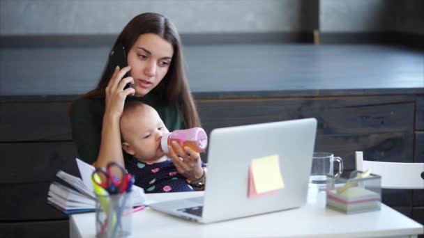
[[[153,107],[139,101],[127,101],[119,124],[122,148],[132,156],[124,159],[125,167],[128,173],[135,175],[135,184],[142,187],[146,193],[203,189],[197,184],[204,184],[206,165],[199,156],[199,161],[195,159],[196,166],[199,166],[197,169],[203,169],[199,181],[190,182],[179,173],[172,159],[169,159],[160,147],[160,138],[168,129]]]

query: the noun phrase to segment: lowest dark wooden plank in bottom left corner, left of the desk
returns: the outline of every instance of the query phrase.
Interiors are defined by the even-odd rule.
[[[69,237],[69,220],[0,223],[0,237]]]

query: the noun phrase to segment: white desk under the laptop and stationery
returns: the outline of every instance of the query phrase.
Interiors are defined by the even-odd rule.
[[[149,194],[148,200],[173,200],[202,192]],[[381,204],[377,212],[342,214],[326,209],[325,193],[310,196],[298,209],[243,219],[200,224],[152,209],[132,216],[133,237],[414,237],[423,225]],[[70,237],[96,237],[94,213],[70,216]]]

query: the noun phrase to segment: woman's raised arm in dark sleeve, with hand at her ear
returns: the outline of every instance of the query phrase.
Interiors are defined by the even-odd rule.
[[[105,100],[85,98],[71,106],[73,140],[79,157],[96,167],[105,167],[111,161],[123,164],[119,120],[126,97],[134,94],[133,88],[123,90],[123,87],[134,80],[121,78],[129,70],[130,67],[116,68],[106,88]]]

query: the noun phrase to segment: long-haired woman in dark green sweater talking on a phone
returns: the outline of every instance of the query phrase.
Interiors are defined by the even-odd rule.
[[[128,67],[112,72],[107,61],[98,86],[70,106],[79,157],[96,167],[105,167],[110,161],[124,164],[119,120],[126,100],[153,106],[170,131],[200,126],[174,24],[157,13],[137,15],[119,34],[112,49],[119,43],[126,49]],[[130,77],[123,78],[126,72]],[[128,83],[132,88],[124,90]],[[175,153],[169,157],[181,157],[185,173],[202,174],[190,163],[190,156],[199,154],[188,155],[179,145],[173,148]]]

